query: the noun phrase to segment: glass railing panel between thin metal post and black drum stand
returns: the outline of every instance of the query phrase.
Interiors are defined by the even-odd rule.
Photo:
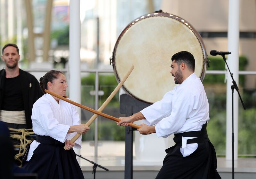
[[[99,106],[105,102],[116,86],[117,82],[113,74],[100,75],[99,90],[103,91],[104,95],[99,96]],[[124,116],[124,114],[119,113],[119,92],[108,103],[103,113],[117,118]],[[125,128],[117,126],[115,121],[100,116],[98,130],[99,156],[124,156]]]

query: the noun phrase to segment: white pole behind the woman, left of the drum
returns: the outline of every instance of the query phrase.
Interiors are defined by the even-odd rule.
[[[71,100],[81,104],[81,22],[80,22],[80,0],[69,1],[69,97]],[[81,108],[76,107],[80,119]],[[78,153],[78,151],[75,151]]]

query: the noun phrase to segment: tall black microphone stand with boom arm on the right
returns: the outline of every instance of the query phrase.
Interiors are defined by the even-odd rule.
[[[221,56],[222,56],[223,60],[225,61],[226,65],[228,67],[225,55],[223,54]],[[231,76],[232,82],[233,82],[233,85],[231,85],[231,90],[232,90],[232,178],[234,179],[235,178],[235,172],[234,172],[234,89],[236,89],[236,91],[239,95],[240,102],[242,103],[242,105],[244,107],[244,110],[246,108],[245,108],[245,105],[244,105],[244,101],[242,100],[242,97],[239,93],[239,89],[238,89],[238,86],[236,84],[236,81],[233,78],[233,73],[230,72],[229,67],[228,67],[228,71],[230,73],[230,76]]]

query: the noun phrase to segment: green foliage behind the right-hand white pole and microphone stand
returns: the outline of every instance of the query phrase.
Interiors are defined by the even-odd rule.
[[[210,68],[207,70],[225,70],[225,61],[222,58],[210,58],[210,60]],[[247,64],[246,57],[239,58],[239,70],[245,70]],[[225,155],[226,120],[231,120],[226,119],[226,83],[224,80],[225,75],[207,74],[203,81],[210,105],[207,132],[216,153],[221,155]],[[239,103],[238,153],[240,156],[256,154],[256,141],[252,140],[256,130],[254,122],[256,120],[256,92],[255,89],[244,89],[244,82],[245,75],[239,75],[239,91],[247,107],[244,110]]]

